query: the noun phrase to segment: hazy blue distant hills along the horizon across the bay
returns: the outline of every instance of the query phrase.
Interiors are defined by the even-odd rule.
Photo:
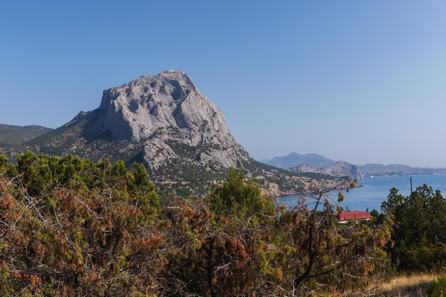
[[[274,157],[271,160],[261,160],[265,164],[279,167],[291,172],[319,172],[333,176],[348,175],[354,178],[383,176],[395,174],[433,174],[446,173],[445,168],[420,168],[408,165],[366,164],[351,165],[343,161],[333,161],[316,154],[301,155],[296,152],[284,157]]]

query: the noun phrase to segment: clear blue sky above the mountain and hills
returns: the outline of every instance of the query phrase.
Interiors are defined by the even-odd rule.
[[[0,123],[189,74],[257,160],[446,167],[446,1],[1,1]]]

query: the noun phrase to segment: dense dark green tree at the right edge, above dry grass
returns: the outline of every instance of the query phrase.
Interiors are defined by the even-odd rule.
[[[442,269],[446,265],[446,200],[424,184],[408,197],[391,189],[381,207],[393,221],[388,245],[397,271]]]

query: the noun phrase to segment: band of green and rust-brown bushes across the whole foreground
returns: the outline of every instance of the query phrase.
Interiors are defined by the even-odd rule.
[[[444,266],[427,254],[430,266],[401,265],[434,240],[429,232],[420,249],[403,244],[412,238],[395,223],[404,197],[393,193],[384,213],[343,225],[333,197],[313,193],[294,209],[278,206],[232,168],[202,197],[160,203],[136,163],[26,152],[12,164],[2,155],[0,296],[346,296],[396,269]],[[420,201],[407,200],[414,215],[422,199],[444,204],[440,193],[416,193]],[[431,221],[423,226],[445,223]]]

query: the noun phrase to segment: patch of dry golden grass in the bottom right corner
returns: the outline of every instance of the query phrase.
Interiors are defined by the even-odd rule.
[[[403,274],[393,278],[388,283],[382,283],[380,285],[380,291],[383,292],[383,296],[425,297],[427,296],[427,285],[438,276],[437,273]]]

